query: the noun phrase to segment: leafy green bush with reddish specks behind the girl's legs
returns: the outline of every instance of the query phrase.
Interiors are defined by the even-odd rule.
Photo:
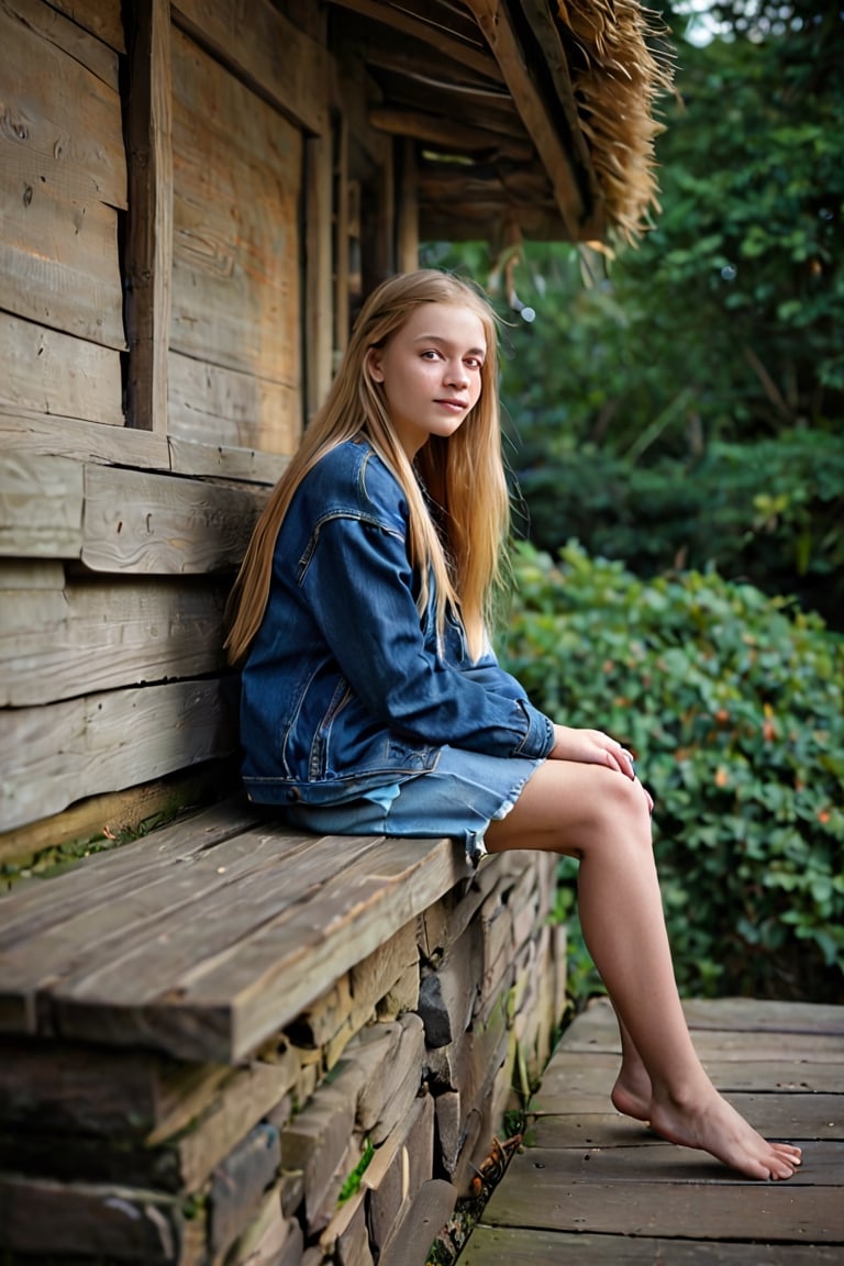
[[[502,662],[621,739],[653,793],[681,990],[844,1000],[844,639],[750,585],[642,581],[578,544],[559,565],[520,546],[514,571]]]

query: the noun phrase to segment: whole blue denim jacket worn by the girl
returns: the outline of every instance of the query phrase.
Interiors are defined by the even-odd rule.
[[[420,618],[407,505],[361,439],[299,486],[276,542],[270,600],[243,670],[243,780],[252,800],[332,804],[424,774],[444,744],[547,756],[552,723],[456,618],[438,656]]]

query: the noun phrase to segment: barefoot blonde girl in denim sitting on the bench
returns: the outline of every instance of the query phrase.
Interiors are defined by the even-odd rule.
[[[492,310],[437,271],[392,277],[235,582],[247,790],[321,833],[580,858],[583,932],[621,1032],[616,1109],[788,1179],[800,1150],[752,1129],[695,1053],[633,758],[539,713],[490,649],[506,534]]]

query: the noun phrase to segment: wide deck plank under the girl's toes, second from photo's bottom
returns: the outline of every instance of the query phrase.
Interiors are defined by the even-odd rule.
[[[572,1174],[572,1156],[578,1155],[573,1150],[530,1148],[514,1157],[483,1222],[619,1236],[685,1236],[691,1229],[697,1239],[844,1241],[840,1193],[834,1186],[811,1186],[796,1179],[742,1181],[715,1161],[693,1158],[687,1165],[678,1150],[666,1152],[668,1160],[658,1176],[652,1176],[649,1162],[638,1181],[614,1185],[578,1180]],[[687,1181],[680,1179],[682,1174]]]

